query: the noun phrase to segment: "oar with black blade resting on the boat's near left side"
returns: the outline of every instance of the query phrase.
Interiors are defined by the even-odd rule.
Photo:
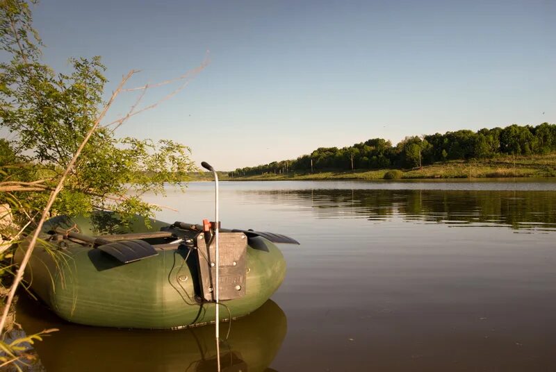
[[[59,227],[54,231],[65,237],[71,237],[72,239],[81,240],[81,242],[96,246],[96,248],[100,249],[104,253],[108,253],[108,255],[111,255],[116,260],[122,262],[122,264],[129,264],[129,262],[135,262],[142,260],[143,258],[158,255],[154,246],[140,239],[112,242],[111,240],[103,239],[101,237],[90,237],[88,235],[75,233],[74,231],[67,231]]]

